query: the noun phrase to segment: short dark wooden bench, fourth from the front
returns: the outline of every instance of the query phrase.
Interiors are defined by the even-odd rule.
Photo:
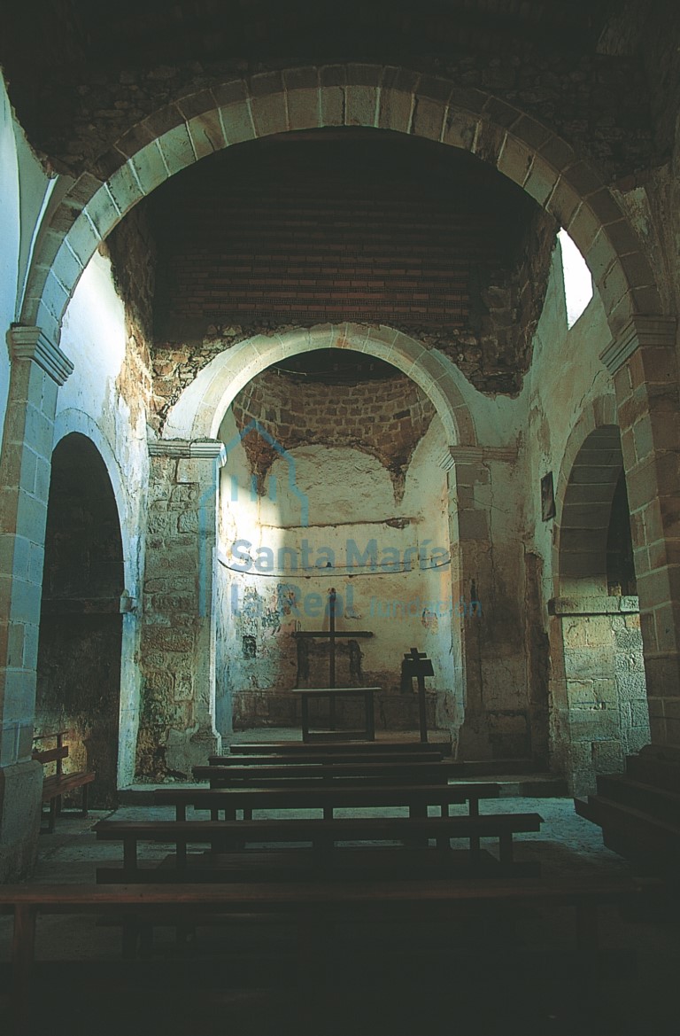
[[[270,786],[273,782],[286,787],[308,787],[324,782],[339,780],[365,784],[445,784],[449,777],[457,773],[457,764],[449,761],[433,762],[381,762],[372,759],[366,762],[301,762],[299,766],[265,765],[257,768],[248,766],[200,766],[194,767],[197,780],[208,780],[211,787],[229,787],[247,784],[249,787]]]

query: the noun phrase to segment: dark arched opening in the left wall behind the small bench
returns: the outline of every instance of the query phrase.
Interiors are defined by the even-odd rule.
[[[52,458],[38,644],[36,733],[68,730],[67,766],[96,771],[91,804],[116,804],[123,551],[100,454],[84,435]]]

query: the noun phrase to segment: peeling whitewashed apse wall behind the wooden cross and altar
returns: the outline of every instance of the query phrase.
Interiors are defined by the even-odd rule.
[[[230,412],[221,437],[232,441],[234,431]],[[223,724],[228,710],[219,701],[230,696],[237,725],[297,722],[294,696],[266,692],[327,685],[327,642],[295,634],[328,629],[331,586],[338,595],[338,633],[374,634],[338,641],[336,684],[383,687],[377,722],[417,725],[415,695],[400,687],[403,654],[417,645],[435,666],[431,722],[460,724],[451,640],[461,620],[447,564],[446,478],[435,459],[442,452],[436,419],[414,451],[396,503],[387,470],[355,449],[288,452],[272,465],[262,496],[249,490],[243,448],[230,450],[221,474],[218,566]]]

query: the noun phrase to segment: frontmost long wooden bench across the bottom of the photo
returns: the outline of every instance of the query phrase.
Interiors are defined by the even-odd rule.
[[[320,882],[183,885],[0,885],[0,912],[13,915],[10,1015],[16,1036],[35,1031],[31,1004],[35,960],[36,919],[41,914],[95,914],[120,916],[145,924],[195,924],[204,916],[276,915],[291,917],[298,929],[300,994],[321,989],[331,978],[326,969],[326,947],[335,922],[450,922],[461,916],[512,915],[527,906],[573,909],[580,967],[594,972],[598,954],[597,911],[600,905],[628,905],[639,911],[660,898],[658,884],[630,880],[538,882]],[[102,961],[102,970],[108,967]],[[139,966],[137,966],[139,967]],[[299,997],[306,1009],[305,997]],[[8,1019],[9,1027],[12,1020]],[[314,1017],[309,1032],[314,1029]],[[12,1032],[12,1028],[9,1028]],[[301,1033],[305,1030],[299,1029]],[[305,1031],[306,1032],[306,1031]]]

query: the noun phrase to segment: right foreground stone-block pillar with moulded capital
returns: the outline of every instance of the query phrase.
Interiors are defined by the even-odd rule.
[[[614,377],[621,428],[650,747],[680,762],[680,388],[675,319],[633,317],[601,358]]]

